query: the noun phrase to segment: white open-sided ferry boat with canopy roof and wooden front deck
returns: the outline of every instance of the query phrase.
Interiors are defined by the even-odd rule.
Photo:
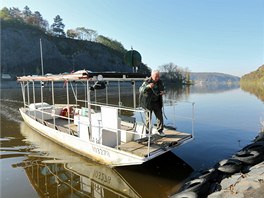
[[[19,111],[25,123],[36,132],[78,154],[111,167],[142,164],[194,138],[194,103],[190,103],[192,113],[188,117],[192,123],[190,132],[165,127],[165,136],[160,136],[155,126],[146,128],[148,110],[137,104],[137,85],[145,79],[145,75],[138,73],[86,70],[17,77],[24,103]],[[122,103],[121,83],[126,83],[125,91],[132,93],[131,106]],[[46,84],[49,84],[51,104],[44,101]],[[66,89],[65,104],[56,104],[56,88],[62,85]],[[40,101],[36,100],[37,92],[40,92]],[[104,102],[97,100],[99,92],[104,94]],[[113,93],[118,97],[117,104],[110,103],[109,95]],[[72,99],[74,103],[70,102]],[[164,101],[166,104],[175,106],[176,101]]]

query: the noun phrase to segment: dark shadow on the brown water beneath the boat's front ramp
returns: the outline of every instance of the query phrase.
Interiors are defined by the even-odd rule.
[[[176,193],[193,171],[172,152],[140,166],[117,167],[116,170],[142,197],[168,197]]]

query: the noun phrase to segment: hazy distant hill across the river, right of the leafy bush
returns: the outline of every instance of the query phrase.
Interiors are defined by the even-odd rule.
[[[237,76],[216,72],[191,72],[190,79],[195,84],[238,83],[240,80]]]

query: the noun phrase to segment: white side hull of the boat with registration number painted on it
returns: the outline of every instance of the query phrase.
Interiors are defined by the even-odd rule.
[[[120,151],[115,148],[109,148],[104,145],[95,144],[90,141],[84,141],[79,137],[60,132],[34,120],[24,112],[24,108],[20,108],[20,113],[25,123],[39,132],[41,135],[51,139],[52,141],[72,150],[78,154],[91,158],[103,164],[110,166],[126,166],[142,164],[154,157],[139,157],[131,153]]]

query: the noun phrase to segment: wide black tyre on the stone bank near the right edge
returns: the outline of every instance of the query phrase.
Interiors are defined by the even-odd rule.
[[[253,150],[241,150],[233,155],[233,158],[250,165],[257,164],[263,159],[258,151]]]

